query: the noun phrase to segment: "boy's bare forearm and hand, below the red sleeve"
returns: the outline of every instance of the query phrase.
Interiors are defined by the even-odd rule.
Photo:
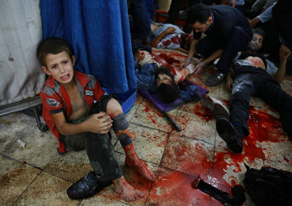
[[[106,134],[112,126],[112,120],[105,112],[93,114],[88,120],[79,124],[67,123],[63,112],[52,114],[52,117],[62,135],[77,135],[83,132]]]

